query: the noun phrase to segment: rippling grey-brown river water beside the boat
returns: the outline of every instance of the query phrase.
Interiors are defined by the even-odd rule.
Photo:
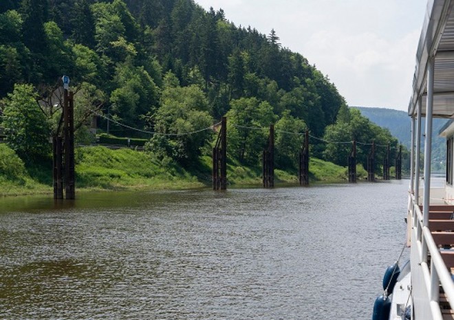
[[[0,319],[371,319],[408,184],[3,198]]]

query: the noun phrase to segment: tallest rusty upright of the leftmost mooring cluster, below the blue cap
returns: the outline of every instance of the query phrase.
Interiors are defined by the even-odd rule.
[[[63,103],[65,135],[65,191],[67,199],[76,198],[74,163],[74,95],[65,89]]]

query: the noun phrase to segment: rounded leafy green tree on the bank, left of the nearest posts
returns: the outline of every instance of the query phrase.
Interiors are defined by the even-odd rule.
[[[50,126],[30,84],[17,84],[4,100],[6,142],[22,159],[45,157],[50,152]]]

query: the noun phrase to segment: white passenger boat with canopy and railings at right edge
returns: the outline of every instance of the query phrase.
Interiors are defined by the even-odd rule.
[[[411,271],[398,278],[391,312],[385,319],[454,319],[453,122],[440,133],[447,141],[446,181],[437,185],[431,179],[433,117],[454,118],[454,1],[429,0],[416,58],[409,104],[412,143],[407,241]],[[415,170],[422,168],[421,157],[417,157],[423,152],[422,118],[423,177]]]

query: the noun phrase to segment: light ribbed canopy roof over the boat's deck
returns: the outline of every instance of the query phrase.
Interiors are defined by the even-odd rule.
[[[426,77],[429,58],[435,59],[433,117],[454,118],[454,1],[429,0],[416,54],[409,115],[426,113]]]

